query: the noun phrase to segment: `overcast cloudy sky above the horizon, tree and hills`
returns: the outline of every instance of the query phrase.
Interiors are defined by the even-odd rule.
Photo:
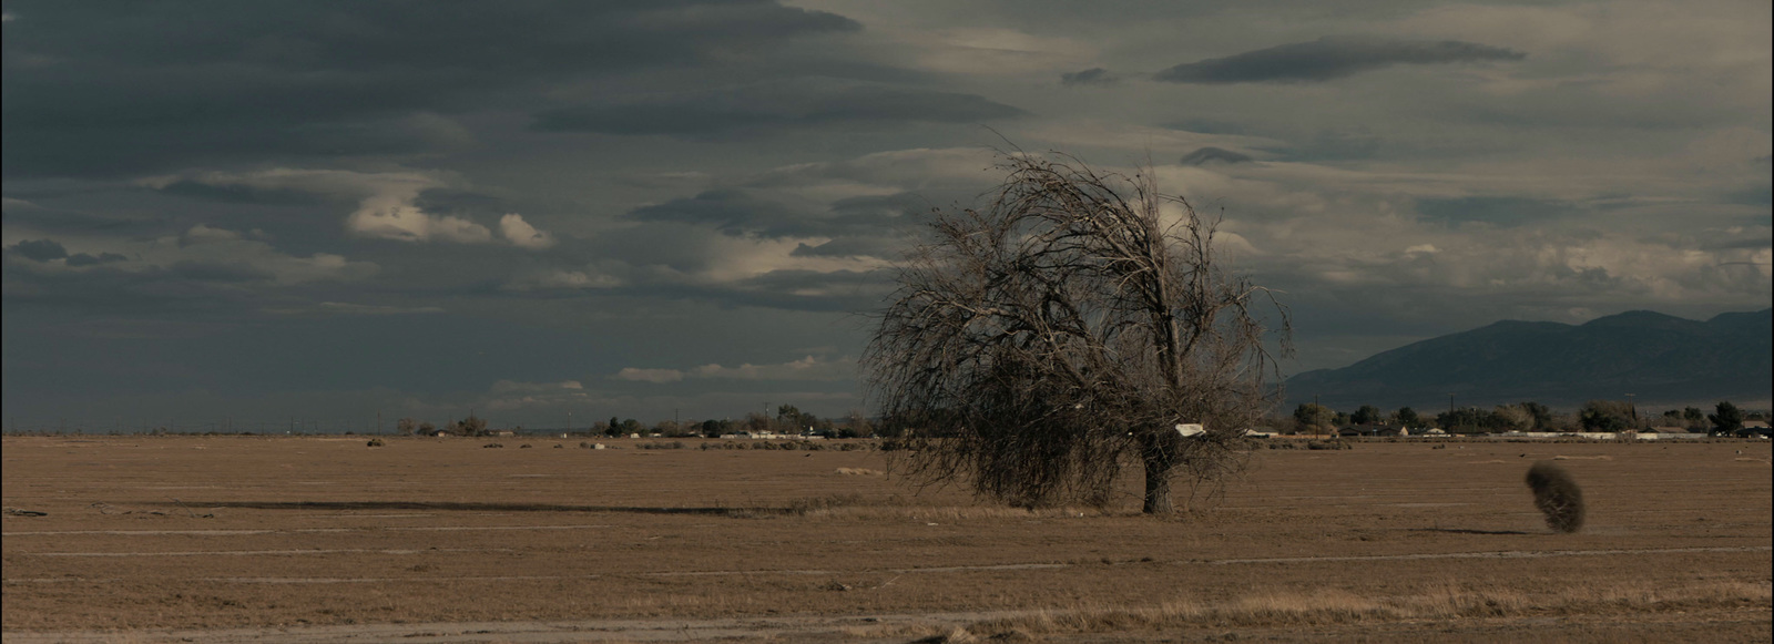
[[[1767,2],[5,2],[4,30],[9,428],[866,408],[887,268],[1006,140],[1222,211],[1290,373],[1770,303]]]

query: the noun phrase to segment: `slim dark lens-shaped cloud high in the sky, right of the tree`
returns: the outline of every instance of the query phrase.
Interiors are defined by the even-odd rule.
[[[1322,37],[1267,50],[1180,64],[1157,73],[1173,83],[1302,83],[1352,76],[1400,64],[1520,60],[1526,53],[1462,41]]]

